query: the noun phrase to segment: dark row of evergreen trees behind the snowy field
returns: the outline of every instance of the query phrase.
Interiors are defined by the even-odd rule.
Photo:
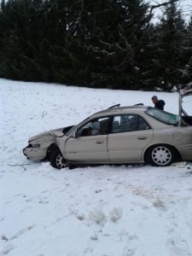
[[[190,86],[192,15],[186,21],[178,3],[3,0],[0,77],[123,90]]]

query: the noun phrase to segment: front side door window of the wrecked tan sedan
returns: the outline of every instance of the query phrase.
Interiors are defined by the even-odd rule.
[[[109,117],[92,119],[77,131],[79,137],[108,134]]]

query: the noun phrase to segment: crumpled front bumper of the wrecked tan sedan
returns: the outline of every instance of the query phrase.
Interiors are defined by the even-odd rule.
[[[28,160],[44,160],[47,154],[47,148],[32,148],[27,146],[23,148],[23,154]]]

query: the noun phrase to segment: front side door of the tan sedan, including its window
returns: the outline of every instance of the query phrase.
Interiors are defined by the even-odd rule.
[[[66,142],[66,157],[75,163],[108,162],[109,117],[91,119],[69,137]]]

